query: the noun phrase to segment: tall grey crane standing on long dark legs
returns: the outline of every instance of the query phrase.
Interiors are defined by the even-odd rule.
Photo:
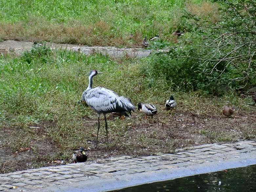
[[[97,113],[98,116],[98,131],[96,139],[96,147],[98,144],[99,135],[99,117],[102,113],[105,119],[105,130],[108,142],[108,124],[106,120],[106,114],[112,112],[129,112],[135,110],[133,104],[123,96],[118,96],[114,91],[106,89],[104,87],[92,88],[93,77],[97,74],[103,74],[96,70],[90,71],[89,73],[89,85],[82,94],[82,100],[87,103]]]

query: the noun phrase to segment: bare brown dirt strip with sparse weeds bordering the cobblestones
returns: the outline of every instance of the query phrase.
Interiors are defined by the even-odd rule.
[[[197,115],[189,112],[174,110],[165,111],[164,116],[156,115],[153,119],[137,112],[132,119],[124,120],[108,117],[109,122],[121,121],[130,123],[127,130],[114,131],[109,127],[109,144],[103,127],[99,135],[99,145],[95,148],[96,119],[83,118],[84,126],[93,126],[91,137],[85,139],[89,161],[108,160],[111,157],[130,155],[132,157],[173,153],[182,147],[214,142],[234,142],[242,139],[253,139],[256,133],[255,113],[239,111],[232,118],[223,115]],[[96,116],[95,116],[96,117]],[[102,119],[103,120],[103,119]],[[95,122],[95,123],[94,123]],[[0,130],[0,172],[12,172],[42,166],[71,163],[72,151],[63,155],[62,147],[54,142],[48,134],[48,129],[58,129],[53,122],[44,122],[30,126],[33,129],[33,139],[23,146],[13,147],[11,139],[21,134],[21,128],[5,127]]]

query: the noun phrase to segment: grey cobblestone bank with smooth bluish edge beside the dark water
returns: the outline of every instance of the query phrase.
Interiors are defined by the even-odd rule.
[[[106,191],[256,164],[256,141],[206,144],[176,154],[119,157],[0,175],[0,191]]]

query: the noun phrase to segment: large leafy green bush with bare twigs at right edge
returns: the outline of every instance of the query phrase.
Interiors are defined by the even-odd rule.
[[[202,90],[206,94],[246,89],[256,84],[255,2],[219,1],[220,22],[202,27],[202,19],[194,19],[196,34],[185,33],[168,53],[150,56],[141,67],[152,86],[159,78],[173,89]],[[195,12],[195,11],[194,11]],[[203,19],[204,20],[204,19]]]

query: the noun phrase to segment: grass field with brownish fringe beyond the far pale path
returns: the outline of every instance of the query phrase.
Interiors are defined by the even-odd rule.
[[[140,46],[142,37],[159,34],[173,39],[177,29],[191,31],[184,10],[215,18],[216,5],[184,1],[8,1],[0,7],[0,39],[81,43],[85,45]],[[205,6],[206,5],[206,6]],[[157,9],[156,9],[157,8]],[[11,11],[10,11],[11,10]],[[129,38],[133,34],[134,37]]]

